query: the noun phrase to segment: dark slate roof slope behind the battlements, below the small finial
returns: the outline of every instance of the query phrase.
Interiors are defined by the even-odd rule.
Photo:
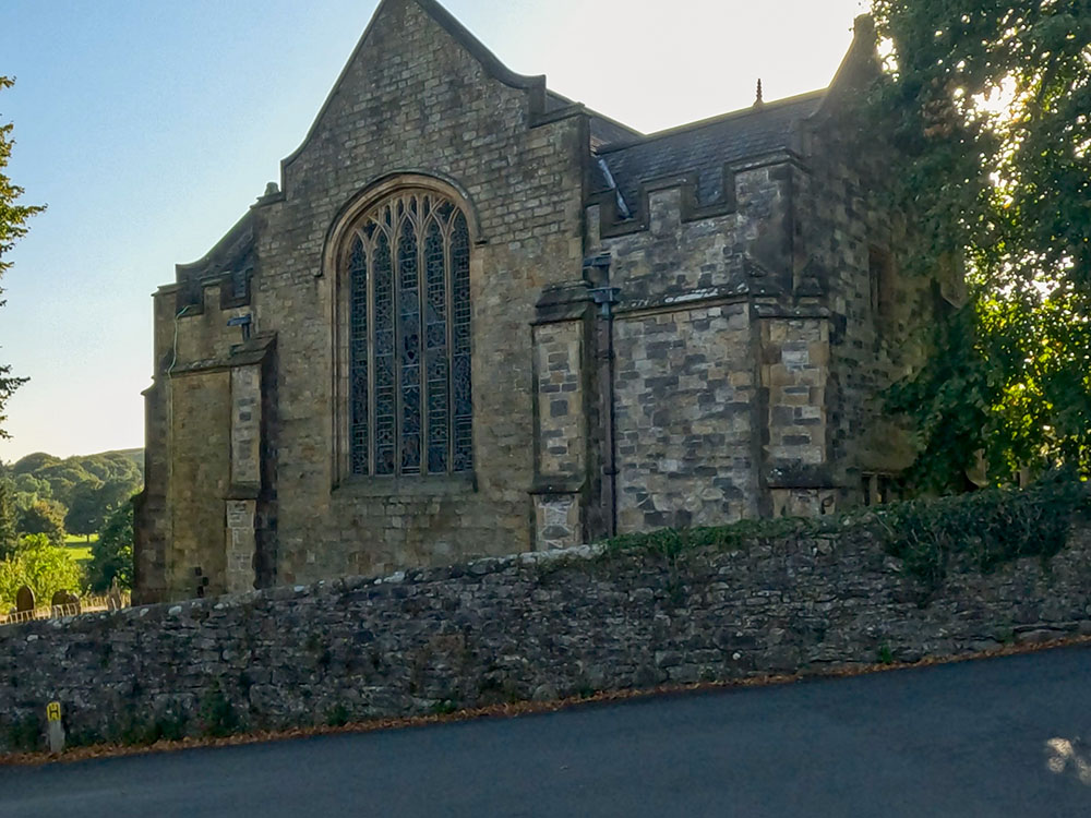
[[[722,194],[724,164],[791,147],[798,124],[818,110],[825,94],[816,91],[635,141],[622,139],[600,145],[597,158],[631,210],[640,205],[640,182],[691,171],[698,176],[699,204],[709,204]],[[591,184],[600,191],[613,187],[601,168],[594,168]]]

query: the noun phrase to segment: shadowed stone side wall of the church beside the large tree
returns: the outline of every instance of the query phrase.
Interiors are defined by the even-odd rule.
[[[921,329],[936,304],[927,276],[909,272],[911,225],[883,206],[887,167],[876,156],[856,154],[834,124],[816,133],[811,161],[799,212],[807,246],[828,276],[836,326],[827,419],[831,464],[852,503],[867,473],[898,474],[915,457],[908,430],[885,412],[883,393],[923,360]]]

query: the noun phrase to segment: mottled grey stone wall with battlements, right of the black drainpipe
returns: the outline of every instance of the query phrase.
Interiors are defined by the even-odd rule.
[[[683,220],[683,182],[649,192],[647,230],[600,234],[615,309],[618,529],[707,525],[764,508],[762,341],[753,299],[791,286],[783,159],[740,167],[729,212]],[[818,396],[820,397],[820,395]],[[768,401],[766,401],[768,402]]]

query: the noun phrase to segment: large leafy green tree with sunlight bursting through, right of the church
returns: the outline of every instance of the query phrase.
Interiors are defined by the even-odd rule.
[[[922,269],[964,276],[928,363],[891,393],[913,478],[959,489],[1091,471],[1091,13],[1087,0],[873,0],[865,113],[901,156]],[[865,132],[870,129],[864,129]]]

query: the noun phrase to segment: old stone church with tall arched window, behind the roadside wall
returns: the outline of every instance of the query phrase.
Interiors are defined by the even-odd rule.
[[[384,0],[155,293],[136,597],[879,500],[933,297],[841,137],[873,70],[862,19],[830,87],[644,135]]]

